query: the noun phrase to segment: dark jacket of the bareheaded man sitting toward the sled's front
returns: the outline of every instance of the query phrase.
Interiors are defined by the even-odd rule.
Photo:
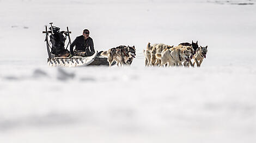
[[[84,40],[83,35],[76,37],[70,46],[71,54],[73,53],[74,46],[76,46],[76,50],[86,51],[86,53],[95,53],[93,39],[91,37],[88,37],[87,40]]]

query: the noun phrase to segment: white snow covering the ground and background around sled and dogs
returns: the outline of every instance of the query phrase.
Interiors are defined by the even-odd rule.
[[[235,3],[235,4],[234,4]],[[254,3],[238,5],[238,3]],[[0,142],[255,142],[255,1],[0,1]],[[54,68],[45,25],[88,28],[131,67]],[[144,67],[147,43],[208,46],[201,68]]]

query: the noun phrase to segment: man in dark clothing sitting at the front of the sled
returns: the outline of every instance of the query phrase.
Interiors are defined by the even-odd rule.
[[[95,53],[93,39],[89,37],[89,34],[89,30],[84,29],[83,35],[76,37],[70,46],[71,56],[92,56]],[[73,51],[74,47],[76,48]]]

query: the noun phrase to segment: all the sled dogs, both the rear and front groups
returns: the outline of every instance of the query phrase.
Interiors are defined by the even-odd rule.
[[[203,60],[206,58],[208,46],[198,46],[198,41],[194,43],[180,43],[178,46],[169,46],[167,44],[148,43],[148,46],[143,50],[145,55],[145,66],[184,66],[200,67]],[[101,56],[107,57],[109,67],[116,61],[117,66],[130,65],[133,58],[136,56],[135,46],[118,46],[107,51],[102,51]],[[193,61],[193,63],[192,63]],[[119,65],[120,64],[120,65]]]

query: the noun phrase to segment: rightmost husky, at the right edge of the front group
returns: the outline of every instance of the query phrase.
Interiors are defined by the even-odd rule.
[[[204,58],[206,58],[206,54],[208,52],[207,48],[208,48],[208,46],[206,46],[206,47],[200,46],[197,49],[196,54],[194,54],[194,56],[193,56],[193,59],[194,59],[193,66],[194,66],[195,63],[197,63],[197,67],[201,66]]]

